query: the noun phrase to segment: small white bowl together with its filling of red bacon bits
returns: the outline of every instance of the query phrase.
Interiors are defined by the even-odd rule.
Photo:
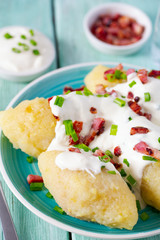
[[[107,54],[127,55],[149,39],[152,24],[140,9],[124,3],[102,4],[84,18],[84,31],[93,47]]]

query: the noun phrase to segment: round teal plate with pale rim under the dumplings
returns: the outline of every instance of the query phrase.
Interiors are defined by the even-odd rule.
[[[50,72],[25,87],[8,105],[15,107],[25,99],[35,97],[48,98],[61,94],[64,86],[77,88],[83,85],[84,77],[93,67],[99,63],[79,64],[61,68]],[[113,67],[115,63],[101,63]],[[126,68],[138,68],[137,66],[124,64]],[[67,231],[103,239],[133,239],[153,236],[160,233],[160,213],[147,207],[145,211],[150,218],[143,222],[141,219],[132,231],[125,229],[112,229],[97,223],[82,221],[68,215],[61,215],[53,210],[56,205],[53,199],[45,196],[47,189],[40,192],[32,192],[26,181],[28,174],[40,174],[37,162],[29,164],[27,155],[21,150],[13,148],[8,139],[1,133],[1,172],[11,191],[33,213],[45,221],[63,228]]]

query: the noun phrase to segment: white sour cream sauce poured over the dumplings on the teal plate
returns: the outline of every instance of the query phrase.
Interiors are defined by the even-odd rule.
[[[130,88],[129,83],[135,81],[136,84]],[[98,174],[101,172],[101,166],[104,165],[98,157],[91,156],[91,152],[82,154],[73,153],[68,151],[69,138],[65,134],[65,127],[63,125],[63,120],[72,121],[82,121],[83,130],[80,135],[85,136],[89,133],[91,128],[91,123],[94,118],[101,117],[106,120],[105,131],[98,137],[96,137],[89,147],[92,149],[94,147],[99,147],[102,151],[107,149],[114,152],[116,146],[120,146],[122,150],[121,156],[118,158],[118,162],[123,164],[123,159],[126,158],[130,163],[127,167],[123,164],[127,175],[131,174],[136,179],[136,184],[133,190],[136,195],[140,195],[140,185],[141,178],[143,174],[143,169],[146,165],[152,164],[150,161],[145,161],[142,159],[143,154],[138,153],[133,150],[134,146],[140,141],[146,142],[151,147],[160,148],[158,138],[160,137],[160,94],[158,93],[160,89],[160,80],[155,78],[149,78],[147,84],[142,84],[136,73],[132,73],[128,77],[128,81],[123,84],[119,84],[114,87],[121,95],[127,96],[128,92],[131,91],[135,96],[140,97],[138,104],[142,106],[143,111],[151,113],[152,119],[149,121],[143,116],[138,116],[135,114],[128,106],[126,98],[122,98],[126,101],[124,107],[120,107],[114,103],[114,96],[96,97],[96,96],[82,96],[77,95],[75,92],[69,93],[68,95],[63,95],[65,99],[63,106],[59,107],[54,105],[55,97],[50,101],[50,107],[52,113],[59,116],[60,121],[57,122],[55,132],[56,136],[51,142],[48,151],[51,150],[62,150],[62,154],[57,156],[56,165],[61,169],[68,168],[70,170],[86,170],[92,174]],[[151,96],[150,102],[144,101],[144,93],[149,92]],[[90,112],[90,108],[94,107],[97,109],[96,114]],[[128,118],[132,117],[129,121]],[[116,136],[110,135],[110,128],[112,124],[118,125],[118,131]],[[149,129],[147,134],[135,134],[130,135],[130,130],[132,127],[146,127]],[[106,168],[110,170],[111,163],[107,163]],[[112,165],[112,170],[114,166]],[[137,198],[140,199],[140,196]],[[141,201],[141,205],[142,201]],[[143,205],[144,206],[144,205]]]

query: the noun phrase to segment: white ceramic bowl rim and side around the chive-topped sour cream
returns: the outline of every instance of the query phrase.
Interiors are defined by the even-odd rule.
[[[22,27],[22,26],[7,26],[5,28],[1,28],[1,31],[6,30],[8,32],[8,29],[14,28],[14,27]],[[23,27],[27,30],[30,28]],[[35,78],[41,76],[43,73],[47,71],[47,69],[51,66],[53,63],[53,60],[55,59],[56,53],[55,53],[55,48],[53,46],[53,43],[47,38],[45,35],[42,33],[38,32],[37,30],[34,29],[34,32],[37,33],[39,36],[42,36],[46,45],[49,47],[50,51],[48,54],[47,61],[43,66],[38,67],[35,70],[26,70],[26,71],[21,71],[21,72],[14,72],[14,71],[8,71],[0,67],[0,77],[6,80],[10,81],[16,81],[16,82],[29,82],[31,80],[34,80]]]

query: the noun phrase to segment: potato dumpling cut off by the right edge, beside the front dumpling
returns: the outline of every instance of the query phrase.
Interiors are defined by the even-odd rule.
[[[160,163],[151,163],[145,167],[141,194],[148,205],[160,210]]]

